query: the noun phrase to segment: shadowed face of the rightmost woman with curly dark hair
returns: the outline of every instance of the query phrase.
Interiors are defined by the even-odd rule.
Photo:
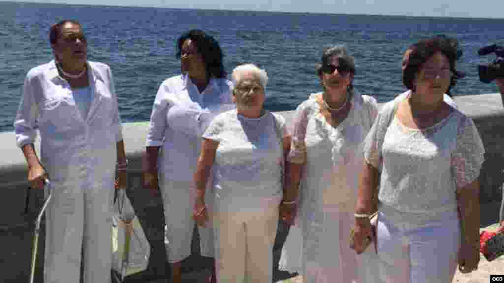
[[[416,92],[443,96],[448,91],[452,75],[448,57],[438,51],[423,63],[413,84]]]

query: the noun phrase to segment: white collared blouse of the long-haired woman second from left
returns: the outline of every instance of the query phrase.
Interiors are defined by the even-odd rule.
[[[192,181],[201,135],[217,114],[234,108],[232,82],[211,78],[200,93],[187,75],[166,79],[154,100],[146,147],[161,147],[159,170],[166,179]]]

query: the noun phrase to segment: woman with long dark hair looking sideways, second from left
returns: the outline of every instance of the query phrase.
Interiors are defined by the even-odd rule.
[[[182,75],[166,79],[154,100],[144,175],[145,185],[155,193],[159,170],[166,219],[165,241],[169,243],[167,256],[172,267],[171,282],[175,283],[181,281],[181,261],[191,255],[195,225],[191,212],[196,193],[193,174],[201,135],[213,116],[234,108],[232,83],[226,79],[218,43],[202,31],[192,30],[178,39],[177,48]],[[199,232],[202,256],[213,257],[211,229],[201,228]]]

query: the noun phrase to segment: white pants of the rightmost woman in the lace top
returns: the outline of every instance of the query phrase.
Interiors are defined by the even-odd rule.
[[[460,247],[457,215],[428,227],[408,229],[378,214],[376,226],[381,277],[387,283],[427,283],[453,280]]]

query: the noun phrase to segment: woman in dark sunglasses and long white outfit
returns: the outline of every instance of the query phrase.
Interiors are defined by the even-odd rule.
[[[304,282],[362,281],[359,273],[365,270],[359,272],[349,235],[362,142],[377,115],[376,101],[354,89],[354,58],[344,46],[326,49],[317,71],[324,91],[296,109],[287,170],[287,203],[296,202],[302,180],[297,213],[302,241],[295,243],[292,227],[280,268],[302,274]],[[295,204],[285,209],[284,219],[292,221],[295,210]],[[301,261],[296,260],[299,248]]]

